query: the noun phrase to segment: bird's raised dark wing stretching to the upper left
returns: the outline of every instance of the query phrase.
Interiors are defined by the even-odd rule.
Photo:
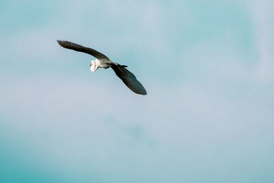
[[[96,51],[95,49],[92,48],[88,48],[88,47],[83,47],[81,45],[77,45],[73,42],[69,42],[66,40],[57,40],[58,44],[61,47],[67,48],[67,49],[73,49],[75,51],[81,51],[84,53],[88,53],[91,56],[94,56],[95,58],[99,59],[99,60],[110,60],[107,56],[105,56],[103,53],[100,53],[99,51]]]

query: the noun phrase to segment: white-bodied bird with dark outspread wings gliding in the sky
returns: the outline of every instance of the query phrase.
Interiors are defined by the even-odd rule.
[[[145,90],[144,86],[142,86],[142,84],[136,79],[135,75],[125,69],[127,66],[112,62],[107,56],[105,56],[103,53],[100,53],[99,51],[96,51],[95,49],[83,47],[82,45],[77,45],[66,40],[57,40],[57,42],[61,47],[66,49],[73,49],[75,51],[88,53],[95,57],[95,60],[90,62],[90,71],[95,72],[99,68],[108,69],[111,67],[116,75],[120,77],[120,79],[130,90],[140,95],[147,95],[147,91]]]

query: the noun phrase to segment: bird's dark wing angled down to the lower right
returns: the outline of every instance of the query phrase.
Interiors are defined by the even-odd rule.
[[[144,86],[142,86],[132,72],[119,65],[112,65],[111,68],[130,90],[140,95],[147,95]]]

